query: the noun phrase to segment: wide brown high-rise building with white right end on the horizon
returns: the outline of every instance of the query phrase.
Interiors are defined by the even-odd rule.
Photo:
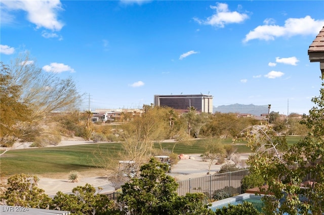
[[[154,95],[154,106],[169,106],[170,108],[188,111],[189,107],[197,112],[213,113],[213,96],[196,95]]]

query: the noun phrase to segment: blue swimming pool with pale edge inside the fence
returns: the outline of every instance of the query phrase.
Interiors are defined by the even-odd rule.
[[[213,211],[216,210],[216,208],[222,208],[223,206],[227,206],[228,204],[241,204],[244,201],[249,201],[253,204],[253,206],[261,212],[263,202],[261,200],[263,195],[254,195],[251,193],[243,193],[237,196],[232,196],[230,198],[225,198],[219,201],[214,201],[212,203],[212,206],[210,207]]]

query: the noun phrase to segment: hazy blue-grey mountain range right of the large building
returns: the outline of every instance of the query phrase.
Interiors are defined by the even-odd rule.
[[[213,106],[213,113],[240,113],[240,114],[252,114],[260,116],[261,114],[268,114],[268,105],[254,105],[254,104],[229,104]],[[271,109],[270,109],[271,112]]]

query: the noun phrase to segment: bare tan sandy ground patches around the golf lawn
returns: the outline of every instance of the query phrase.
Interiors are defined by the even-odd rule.
[[[91,144],[92,141],[85,140],[63,140],[57,146],[67,146],[67,145],[79,145],[79,144]],[[17,143],[12,149],[22,149],[28,148],[30,143]],[[47,147],[55,147],[50,145]],[[176,165],[172,166],[170,176],[174,177],[176,181],[182,181],[192,178],[198,178],[206,176],[208,173],[209,162],[203,161],[200,154],[188,154],[191,159],[181,159],[178,160]],[[237,154],[240,159],[247,160],[249,154],[242,153]],[[231,161],[227,161],[231,162]],[[210,174],[215,174],[220,170],[222,165],[213,164],[210,169]],[[101,193],[113,192],[114,188],[108,181],[107,177],[101,171],[89,171],[80,173],[79,182],[72,183],[66,178],[66,175],[48,175],[47,177],[39,177],[38,187],[45,190],[45,193],[54,196],[57,191],[62,191],[63,193],[71,193],[71,190],[76,186],[84,186],[87,183],[94,187],[101,187],[103,190]]]

